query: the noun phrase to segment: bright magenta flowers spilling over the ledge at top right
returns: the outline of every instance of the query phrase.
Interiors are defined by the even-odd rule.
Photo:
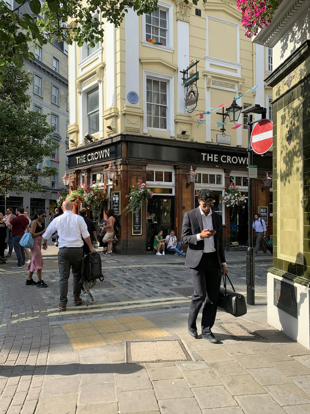
[[[272,21],[278,0],[237,0],[237,8],[241,11],[241,24],[246,29],[246,36],[258,33],[263,26]]]

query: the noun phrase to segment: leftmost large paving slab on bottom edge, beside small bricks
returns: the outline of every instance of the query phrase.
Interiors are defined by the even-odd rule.
[[[42,397],[38,402],[36,414],[75,414],[78,394],[53,395]]]

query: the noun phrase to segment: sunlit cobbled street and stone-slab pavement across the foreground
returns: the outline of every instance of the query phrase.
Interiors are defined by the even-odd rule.
[[[94,302],[75,307],[68,296],[61,313],[56,254],[51,246],[44,253],[46,289],[26,286],[25,269],[0,267],[0,413],[310,413],[310,351],[267,325],[270,257],[255,265],[257,305],[237,320],[262,339],[236,341],[215,325],[220,344],[210,344],[187,332],[183,258],[103,256]],[[236,290],[246,293],[244,255],[242,263],[227,256]],[[217,323],[231,321],[218,312]],[[154,327],[149,336],[143,326]],[[94,347],[95,337],[103,345]],[[128,364],[123,341],[132,338],[181,339],[193,361]]]

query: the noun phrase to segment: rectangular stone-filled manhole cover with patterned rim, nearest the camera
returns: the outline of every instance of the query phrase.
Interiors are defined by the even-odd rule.
[[[180,339],[126,342],[127,363],[193,361]]]

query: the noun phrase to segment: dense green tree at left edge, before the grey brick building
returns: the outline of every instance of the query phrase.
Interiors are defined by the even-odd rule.
[[[52,154],[58,144],[50,134],[53,128],[46,116],[29,110],[30,96],[27,89],[29,75],[12,64],[2,71],[0,87],[0,195],[12,191],[40,191],[38,177],[57,174],[56,168],[37,164]]]

